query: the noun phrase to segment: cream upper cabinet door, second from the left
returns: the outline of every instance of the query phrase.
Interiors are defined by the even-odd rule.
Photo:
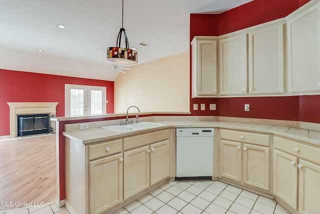
[[[246,35],[219,40],[220,94],[247,94]]]

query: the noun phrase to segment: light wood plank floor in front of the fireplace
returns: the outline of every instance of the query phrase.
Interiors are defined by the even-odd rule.
[[[55,152],[55,134],[0,141],[0,211],[18,208],[15,202],[54,202]]]

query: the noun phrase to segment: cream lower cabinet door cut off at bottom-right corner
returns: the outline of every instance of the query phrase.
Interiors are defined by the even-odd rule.
[[[320,166],[299,159],[299,196],[300,213],[320,212]]]

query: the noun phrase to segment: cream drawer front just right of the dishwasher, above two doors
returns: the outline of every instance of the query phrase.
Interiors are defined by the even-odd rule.
[[[220,130],[220,138],[243,143],[252,143],[261,146],[269,146],[269,135],[264,134]]]

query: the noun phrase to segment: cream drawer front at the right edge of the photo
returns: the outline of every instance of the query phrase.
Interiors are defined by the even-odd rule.
[[[320,164],[320,149],[318,148],[303,145],[277,136],[273,136],[273,146],[286,153]]]

